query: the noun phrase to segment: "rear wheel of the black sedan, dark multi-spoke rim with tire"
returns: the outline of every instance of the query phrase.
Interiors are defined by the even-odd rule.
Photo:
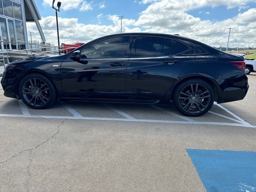
[[[214,90],[204,80],[186,80],[175,89],[173,102],[182,114],[193,117],[201,116],[212,108]]]

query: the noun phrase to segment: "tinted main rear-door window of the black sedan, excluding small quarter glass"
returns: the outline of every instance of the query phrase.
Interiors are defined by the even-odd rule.
[[[135,56],[170,55],[172,40],[157,37],[138,37],[135,43]]]

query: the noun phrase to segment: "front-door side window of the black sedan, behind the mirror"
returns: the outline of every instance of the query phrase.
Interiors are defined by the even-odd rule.
[[[120,58],[125,56],[130,36],[114,37],[90,45],[81,51],[81,58]]]

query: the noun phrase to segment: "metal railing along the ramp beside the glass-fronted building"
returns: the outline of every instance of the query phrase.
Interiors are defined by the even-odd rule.
[[[3,43],[3,44],[2,44]],[[15,43],[16,47],[18,44],[22,44],[22,45],[29,45],[29,47],[32,47],[33,45],[35,46],[40,46],[40,48],[36,47],[36,48],[30,48],[30,49],[19,49],[17,50],[10,50],[10,46],[12,46],[12,44]],[[9,64],[9,58],[10,56],[26,56],[26,57],[32,57],[35,55],[44,55],[44,54],[50,54],[50,55],[56,55],[56,54],[60,54],[60,52],[63,52],[62,54],[64,54],[64,50],[68,50],[68,49],[76,49],[77,47],[66,47],[66,48],[59,48],[58,46],[48,46],[48,45],[43,45],[43,44],[32,44],[32,43],[25,43],[25,42],[10,42],[10,41],[4,41],[4,40],[0,40],[0,45],[1,45],[1,52],[0,52],[0,56],[2,56],[2,58],[0,58],[0,61],[3,62],[4,64],[4,68],[6,64]],[[47,49],[50,49],[47,51]],[[5,61],[6,58],[6,61]]]

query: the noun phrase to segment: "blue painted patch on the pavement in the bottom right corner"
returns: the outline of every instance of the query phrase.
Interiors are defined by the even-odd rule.
[[[186,151],[207,192],[256,192],[256,152]]]

